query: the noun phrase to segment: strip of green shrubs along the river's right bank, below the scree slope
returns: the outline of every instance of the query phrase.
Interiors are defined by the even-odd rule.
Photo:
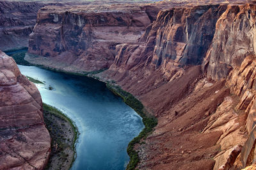
[[[153,128],[156,127],[157,125],[157,119],[154,118],[154,116],[150,116],[147,114],[147,112],[144,109],[143,104],[135,98],[134,96],[131,95],[131,93],[128,93],[124,91],[122,88],[119,86],[115,86],[111,83],[107,83],[106,86],[113,91],[116,95],[120,96],[123,98],[124,102],[132,107],[134,111],[136,111],[141,118],[143,119],[143,123],[145,125],[145,128],[140,132],[140,134],[137,137],[134,137],[132,141],[129,143],[127,147],[127,153],[130,157],[130,162],[127,165],[126,169],[135,169],[138,162],[140,162],[140,158],[138,155],[138,152],[134,150],[134,145],[137,143],[140,143],[141,139],[146,139],[148,134],[152,132]]]

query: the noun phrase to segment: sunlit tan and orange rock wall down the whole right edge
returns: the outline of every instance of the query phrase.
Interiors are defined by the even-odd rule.
[[[236,160],[233,168],[255,164],[255,4],[228,6],[216,24],[216,33],[202,66],[208,77],[225,79],[231,93],[239,97],[234,107],[239,114],[237,118],[228,118],[228,122],[235,122],[230,128],[232,133],[239,129],[235,125],[244,124],[248,137],[245,143],[237,143],[243,148],[237,158],[232,158]],[[227,112],[224,115],[228,116]],[[240,135],[227,140],[242,138]]]

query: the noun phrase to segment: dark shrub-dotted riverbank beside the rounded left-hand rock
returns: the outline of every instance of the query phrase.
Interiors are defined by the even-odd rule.
[[[65,114],[47,104],[44,104],[44,121],[52,139],[45,169],[70,169],[76,158],[76,126]]]

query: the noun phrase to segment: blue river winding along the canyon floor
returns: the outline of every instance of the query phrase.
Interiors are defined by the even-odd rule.
[[[45,82],[36,84],[44,103],[60,109],[76,123],[80,135],[72,169],[125,169],[129,141],[144,127],[131,107],[103,82],[36,66],[18,66],[23,75]]]

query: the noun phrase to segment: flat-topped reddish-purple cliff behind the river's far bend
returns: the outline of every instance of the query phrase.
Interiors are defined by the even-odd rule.
[[[38,12],[29,53],[52,58],[73,71],[108,68],[116,45],[137,42],[156,17],[154,10],[142,4],[47,6]]]

